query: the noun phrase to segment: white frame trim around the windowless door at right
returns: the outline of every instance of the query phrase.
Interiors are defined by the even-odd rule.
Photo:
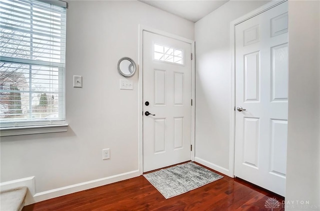
[[[230,22],[230,46],[231,46],[231,103],[230,103],[230,136],[229,136],[229,174],[234,177],[234,153],[235,153],[235,26],[266,10],[273,8],[287,0],[272,0],[245,15]]]

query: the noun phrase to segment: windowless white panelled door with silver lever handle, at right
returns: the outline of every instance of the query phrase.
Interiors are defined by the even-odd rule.
[[[282,196],[288,113],[287,27],[287,2],[235,26],[234,175]]]

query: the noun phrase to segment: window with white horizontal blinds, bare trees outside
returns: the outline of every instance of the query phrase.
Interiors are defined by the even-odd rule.
[[[0,1],[1,128],[64,122],[65,16],[45,1]]]

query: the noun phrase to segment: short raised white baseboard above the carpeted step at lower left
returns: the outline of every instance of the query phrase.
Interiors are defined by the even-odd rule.
[[[23,186],[28,188],[25,195],[25,205],[33,203],[33,195],[35,194],[34,176],[1,182],[0,190],[4,191]]]

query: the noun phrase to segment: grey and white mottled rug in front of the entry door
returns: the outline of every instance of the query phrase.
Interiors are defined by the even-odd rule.
[[[193,162],[160,169],[143,176],[165,198],[185,193],[223,177]]]

